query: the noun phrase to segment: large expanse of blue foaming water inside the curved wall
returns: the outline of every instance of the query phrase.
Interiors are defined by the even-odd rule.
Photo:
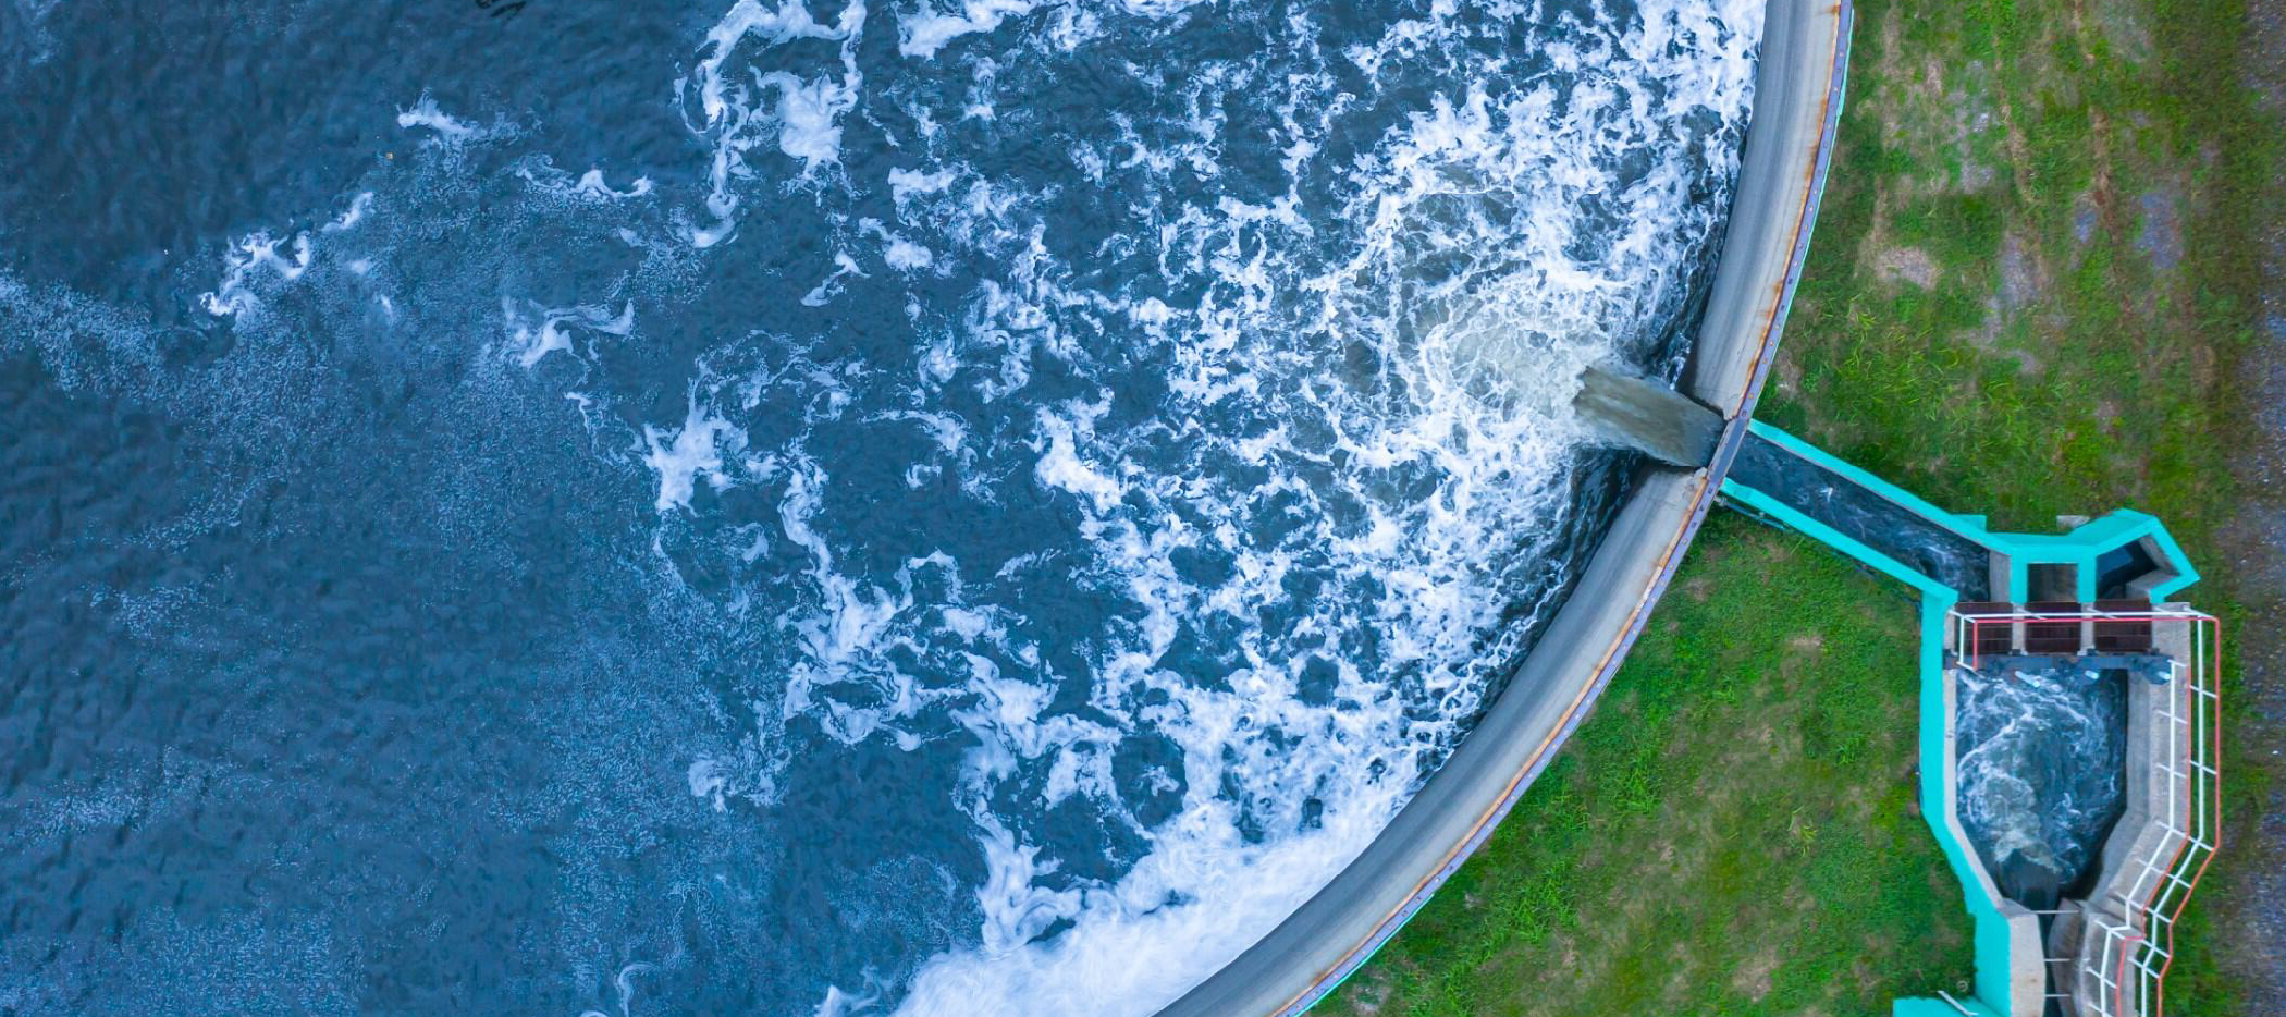
[[[1152,1012],[1561,599],[1758,34],[0,0],[0,1012]]]

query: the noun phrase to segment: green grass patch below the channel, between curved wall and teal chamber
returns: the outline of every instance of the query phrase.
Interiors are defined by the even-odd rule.
[[[1751,610],[1740,608],[1751,592]],[[1333,1015],[1875,1012],[1968,978],[1913,802],[1916,601],[1735,514]]]

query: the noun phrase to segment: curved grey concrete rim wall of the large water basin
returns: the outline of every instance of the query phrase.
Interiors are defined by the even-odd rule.
[[[1586,715],[1747,437],[1808,254],[1847,57],[1847,0],[1769,0],[1731,224],[1680,382],[1724,414],[1712,464],[1644,469],[1570,599],[1420,795],[1326,889],[1159,1017],[1287,1017],[1317,1003],[1490,836]]]

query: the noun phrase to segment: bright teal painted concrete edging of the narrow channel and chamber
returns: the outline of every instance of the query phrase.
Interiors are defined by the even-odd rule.
[[[2147,548],[2156,551],[2153,558],[2172,571],[2169,578],[2151,585],[2149,596],[2153,603],[2165,601],[2199,580],[2197,569],[2192,569],[2190,560],[2183,558],[2183,548],[2167,535],[2167,528],[2144,512],[2119,510],[2103,519],[2087,521],[2064,535],[1998,532],[1984,526],[1984,516],[1945,512],[1920,496],[1843,462],[1840,457],[1779,427],[1753,421],[1749,430],[1756,437],[1863,487],[1868,494],[1904,507],[1929,523],[1993,551],[1996,555],[2005,555],[2007,580],[2005,587],[1993,590],[1993,599],[1998,601],[2014,603],[2028,599],[2030,564],[2076,564],[2080,601],[2094,601],[2096,560],[2108,551],[2144,539]],[[1945,583],[1902,564],[1879,548],[1847,537],[1833,526],[1795,510],[1792,505],[1774,498],[1769,491],[1758,491],[1726,478],[1721,494],[1751,514],[1815,537],[1865,567],[1920,592],[1920,759],[1943,761],[1948,754],[1945,727],[1950,722],[1950,706],[1945,702],[1945,617],[1961,601],[1961,594]],[[1925,763],[1920,768],[1920,800],[1948,802],[1952,793],[1952,788],[1945,786],[1950,772],[1950,766]],[[1968,999],[1957,1001],[1900,999],[1895,1001],[1891,1015],[1959,1017],[1968,1012],[1975,1017],[2037,1017],[2009,1012],[2009,923],[2000,912],[2000,900],[1991,891],[1991,880],[1984,878],[1973,850],[1955,836],[1955,830],[1948,823],[1950,809],[1934,809],[1925,804],[1923,818],[1929,823],[1929,832],[1945,852],[1952,875],[1961,882],[1964,905],[1968,907],[1968,916],[1975,928],[1975,992]]]

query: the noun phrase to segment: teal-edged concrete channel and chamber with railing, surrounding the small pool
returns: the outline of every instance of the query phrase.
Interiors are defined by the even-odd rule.
[[[2169,601],[2199,576],[2167,528],[2119,510],[2060,519],[2060,535],[1998,532],[1760,421],[1721,494],[1920,594],[1923,818],[1975,926],[1975,990],[1900,999],[1893,1015],[2160,1015],[2174,921],[2222,820],[2220,624]],[[2028,882],[2021,857],[1987,857],[1964,827],[1964,697],[2046,674],[2110,681],[2124,704],[2099,731],[2124,750],[2099,775],[2117,777],[2119,818],[2080,871]]]

